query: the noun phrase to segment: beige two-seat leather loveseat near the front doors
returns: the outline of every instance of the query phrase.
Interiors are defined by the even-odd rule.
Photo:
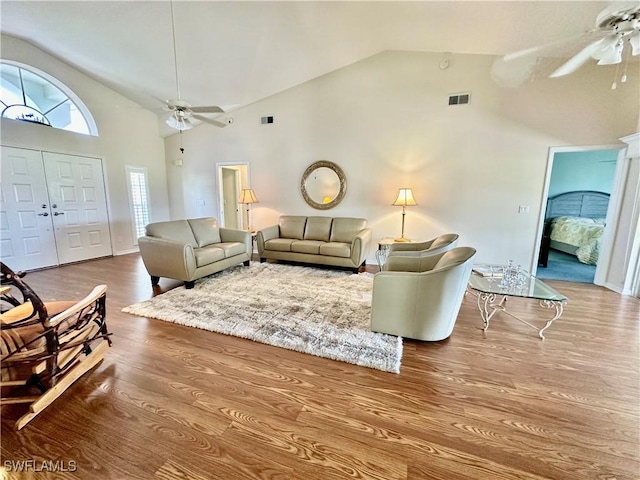
[[[251,260],[251,234],[218,228],[213,217],[150,223],[146,233],[138,246],[152,285],[165,277],[193,288],[198,278]]]

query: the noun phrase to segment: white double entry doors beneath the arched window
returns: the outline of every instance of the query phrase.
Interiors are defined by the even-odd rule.
[[[33,270],[112,254],[99,158],[1,147],[0,256]]]

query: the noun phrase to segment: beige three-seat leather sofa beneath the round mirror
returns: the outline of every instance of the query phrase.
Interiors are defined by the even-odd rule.
[[[353,268],[365,264],[371,229],[364,218],[283,215],[257,234],[260,261],[289,260]]]

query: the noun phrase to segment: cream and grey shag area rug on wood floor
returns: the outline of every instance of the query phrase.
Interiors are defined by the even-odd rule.
[[[122,311],[398,373],[402,338],[370,331],[372,290],[370,273],[252,263]]]

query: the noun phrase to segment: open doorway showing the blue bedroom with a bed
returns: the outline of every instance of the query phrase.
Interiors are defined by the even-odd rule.
[[[619,146],[551,149],[538,237],[538,278],[596,283],[606,255],[605,232],[611,225],[606,222],[607,203],[597,208],[586,203],[594,201],[593,192],[605,197],[613,193],[620,150]]]

